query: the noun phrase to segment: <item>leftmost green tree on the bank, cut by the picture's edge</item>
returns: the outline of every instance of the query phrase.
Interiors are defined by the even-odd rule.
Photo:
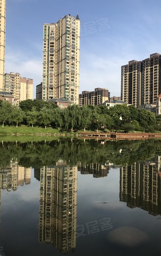
[[[9,122],[11,118],[12,105],[10,102],[3,100],[0,106],[0,122],[4,128],[4,123]]]

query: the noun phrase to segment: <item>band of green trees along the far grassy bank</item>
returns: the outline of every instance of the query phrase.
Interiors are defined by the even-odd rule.
[[[54,102],[43,100],[21,101],[19,107],[0,102],[0,122],[4,125],[52,126],[67,130],[161,131],[161,116],[147,110],[137,110],[133,105],[82,106],[71,105],[61,110]]]

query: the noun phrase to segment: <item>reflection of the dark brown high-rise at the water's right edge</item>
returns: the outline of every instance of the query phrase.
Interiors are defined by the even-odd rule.
[[[161,157],[120,168],[120,201],[140,207],[149,214],[161,214]]]

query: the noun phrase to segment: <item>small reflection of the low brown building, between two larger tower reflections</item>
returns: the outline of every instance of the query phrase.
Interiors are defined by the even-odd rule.
[[[79,162],[78,170],[81,174],[93,174],[94,178],[107,177],[107,174],[109,174],[109,164],[82,164]]]

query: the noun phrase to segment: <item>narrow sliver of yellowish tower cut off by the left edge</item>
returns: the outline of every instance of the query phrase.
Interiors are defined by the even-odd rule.
[[[0,0],[0,91],[4,88],[6,0]]]

